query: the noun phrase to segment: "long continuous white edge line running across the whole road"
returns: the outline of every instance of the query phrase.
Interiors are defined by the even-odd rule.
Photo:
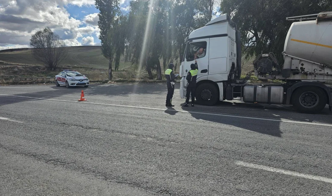
[[[2,95],[2,96],[12,96],[12,97],[33,98],[33,99],[45,99],[45,100],[53,100],[53,101],[78,102],[78,101],[70,101],[70,100],[50,99],[50,98],[37,98],[37,97],[25,97],[25,96],[17,96],[17,95],[3,95],[3,94],[0,94],[0,95]],[[143,109],[155,109],[155,110],[163,110],[163,111],[170,110],[170,111],[195,113],[195,114],[207,114],[207,115],[214,115],[214,116],[226,116],[226,117],[234,117],[234,118],[246,118],[246,119],[255,119],[255,120],[268,120],[268,121],[277,121],[277,122],[290,122],[290,123],[298,123],[298,124],[322,125],[322,126],[331,126],[332,127],[332,124],[321,124],[321,123],[313,123],[313,122],[302,122],[302,121],[283,120],[283,119],[255,118],[255,117],[248,117],[248,116],[234,116],[234,115],[228,115],[228,114],[216,114],[216,113],[195,112],[195,111],[185,111],[185,110],[165,109],[165,108],[155,108],[155,107],[119,105],[119,104],[111,104],[111,103],[96,103],[96,102],[83,102],[83,101],[81,101],[81,103],[90,103],[90,104],[99,104],[99,105],[112,105],[112,106],[120,106],[120,107],[134,107],[134,108],[143,108]]]

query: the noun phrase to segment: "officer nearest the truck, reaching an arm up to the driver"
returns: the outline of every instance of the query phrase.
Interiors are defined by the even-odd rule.
[[[190,65],[190,68],[191,70],[188,72],[188,75],[186,77],[188,83],[187,83],[186,102],[183,104],[184,107],[188,107],[190,93],[191,93],[191,106],[194,107],[195,103],[196,79],[198,74],[197,61],[195,61],[195,64],[192,63]]]

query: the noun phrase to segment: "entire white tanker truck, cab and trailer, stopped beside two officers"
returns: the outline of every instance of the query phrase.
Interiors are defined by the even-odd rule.
[[[315,16],[315,17],[313,17]],[[186,98],[186,76],[198,58],[196,100],[203,105],[241,98],[248,103],[291,104],[300,112],[317,113],[326,104],[332,109],[332,12],[290,17],[284,64],[273,53],[253,62],[258,79],[285,83],[246,84],[241,77],[241,39],[227,14],[190,33],[180,66],[180,96]],[[198,52],[200,50],[200,52]],[[202,52],[203,51],[203,52]]]

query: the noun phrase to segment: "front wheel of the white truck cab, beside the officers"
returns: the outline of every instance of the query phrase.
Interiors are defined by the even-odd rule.
[[[214,105],[219,99],[218,89],[211,83],[203,83],[196,88],[196,100],[202,105]]]

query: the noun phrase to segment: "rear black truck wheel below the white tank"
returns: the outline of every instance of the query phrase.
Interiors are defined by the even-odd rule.
[[[294,108],[302,113],[318,113],[324,109],[326,103],[326,95],[318,87],[299,87],[292,95]]]

